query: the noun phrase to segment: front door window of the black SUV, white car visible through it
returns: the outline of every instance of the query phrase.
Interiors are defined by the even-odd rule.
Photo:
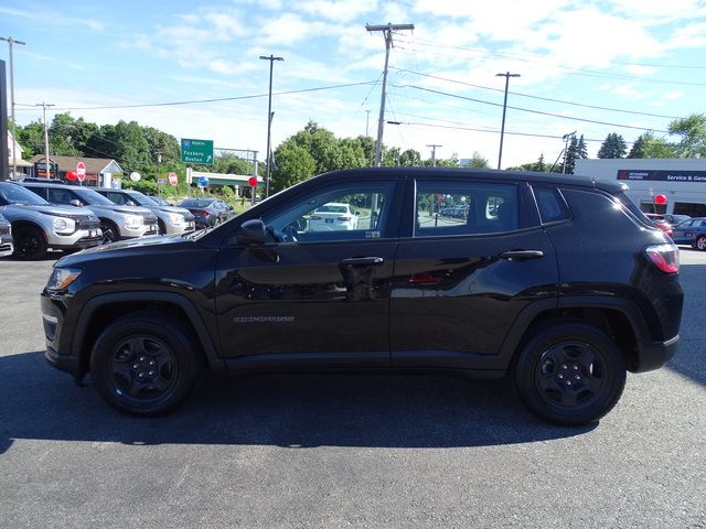
[[[330,185],[263,216],[271,240],[317,242],[385,236],[395,182]]]

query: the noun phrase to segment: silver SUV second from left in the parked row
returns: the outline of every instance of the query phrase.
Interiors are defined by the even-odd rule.
[[[52,204],[88,207],[100,219],[103,241],[157,235],[157,217],[143,207],[118,206],[89,187],[62,184],[23,183]]]

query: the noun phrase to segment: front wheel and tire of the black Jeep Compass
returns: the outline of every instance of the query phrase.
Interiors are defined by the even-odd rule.
[[[180,325],[151,312],[110,324],[90,354],[100,396],[132,415],[154,417],[178,407],[201,374],[200,345]]]

